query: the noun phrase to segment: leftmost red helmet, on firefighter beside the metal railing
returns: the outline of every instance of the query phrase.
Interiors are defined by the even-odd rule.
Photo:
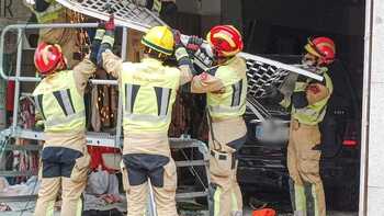
[[[41,75],[53,73],[61,64],[66,65],[66,60],[61,53],[61,47],[57,44],[38,44],[35,56],[35,66]]]

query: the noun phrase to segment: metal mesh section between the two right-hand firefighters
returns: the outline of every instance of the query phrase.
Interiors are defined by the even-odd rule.
[[[248,94],[255,98],[263,96],[268,86],[279,87],[290,73],[287,70],[251,59],[247,59],[247,68]]]

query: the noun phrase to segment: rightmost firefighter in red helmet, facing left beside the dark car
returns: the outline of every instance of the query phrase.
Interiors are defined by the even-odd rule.
[[[287,168],[290,171],[291,202],[295,216],[325,216],[326,203],[319,174],[321,155],[320,132],[327,102],[332,93],[328,68],[336,55],[335,43],[328,37],[309,38],[305,45],[305,68],[323,77],[323,81],[298,76],[291,96],[276,89],[270,91],[274,100],[291,111]]]

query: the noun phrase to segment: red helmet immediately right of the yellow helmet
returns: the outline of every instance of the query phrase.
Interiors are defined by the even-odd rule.
[[[218,57],[235,56],[242,50],[241,34],[231,25],[216,25],[206,35],[206,41]]]

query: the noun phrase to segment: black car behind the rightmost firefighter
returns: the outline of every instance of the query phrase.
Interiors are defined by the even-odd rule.
[[[289,64],[298,62],[298,57],[294,56],[269,57]],[[359,100],[341,62],[335,61],[330,71],[335,90],[320,124],[320,173],[328,208],[354,211],[359,203],[360,177]],[[248,95],[248,101],[267,110],[269,117],[261,121],[255,112],[247,110],[248,139],[238,155],[241,190],[248,195],[260,191],[286,195],[290,113],[268,100]]]

